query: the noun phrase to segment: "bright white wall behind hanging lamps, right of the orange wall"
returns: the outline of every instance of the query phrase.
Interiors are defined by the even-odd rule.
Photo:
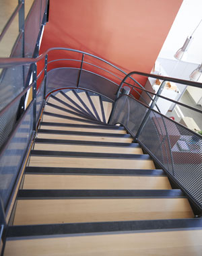
[[[191,36],[202,19],[202,0],[184,0],[176,19],[160,51],[160,58],[174,59],[174,54],[182,47],[187,36]],[[202,62],[202,22],[193,34],[187,62]]]

